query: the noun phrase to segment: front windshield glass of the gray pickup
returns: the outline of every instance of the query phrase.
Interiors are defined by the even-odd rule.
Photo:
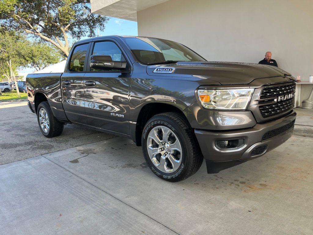
[[[145,65],[177,61],[205,61],[203,57],[177,42],[141,37],[125,37],[123,40],[136,59]]]

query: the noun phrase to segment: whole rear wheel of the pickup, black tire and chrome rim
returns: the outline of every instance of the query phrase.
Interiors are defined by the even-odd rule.
[[[37,109],[37,120],[40,131],[45,137],[51,138],[62,134],[64,123],[59,122],[52,113],[47,101],[41,102]]]

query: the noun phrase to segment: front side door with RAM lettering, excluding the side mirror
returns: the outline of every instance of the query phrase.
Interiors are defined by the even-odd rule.
[[[91,55],[110,56],[112,61],[125,62],[125,54],[113,40],[95,41],[90,48]],[[106,57],[106,58],[110,58]],[[90,61],[90,58],[89,60]],[[85,110],[88,125],[129,134],[129,82],[128,72],[118,69],[92,69],[87,65],[84,77]]]

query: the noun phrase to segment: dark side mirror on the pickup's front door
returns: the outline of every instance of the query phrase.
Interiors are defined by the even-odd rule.
[[[125,70],[126,61],[113,61],[110,55],[92,55],[90,56],[90,68],[100,70]]]

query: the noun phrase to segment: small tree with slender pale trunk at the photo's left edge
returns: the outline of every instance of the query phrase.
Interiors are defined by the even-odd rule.
[[[29,41],[21,34],[15,31],[0,30],[0,61],[6,65],[9,70],[9,77],[13,79],[18,97],[21,97],[16,82],[15,73],[20,67],[28,64],[27,54],[29,50]],[[4,75],[5,73],[3,73]]]

